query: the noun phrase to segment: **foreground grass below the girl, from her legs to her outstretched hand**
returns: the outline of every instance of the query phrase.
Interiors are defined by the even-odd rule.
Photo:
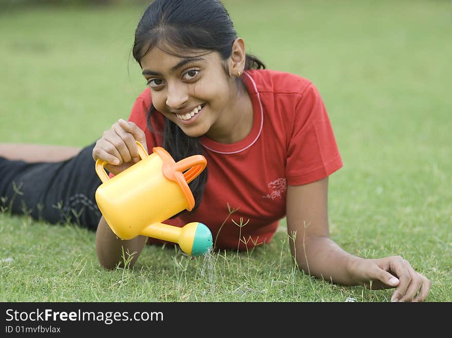
[[[251,252],[223,251],[191,260],[179,248],[148,246],[132,270],[100,268],[94,234],[0,216],[0,299],[8,302],[343,302],[388,301],[389,291],[332,285],[294,269],[288,238]],[[209,264],[210,263],[210,264]],[[211,268],[209,268],[209,265]]]

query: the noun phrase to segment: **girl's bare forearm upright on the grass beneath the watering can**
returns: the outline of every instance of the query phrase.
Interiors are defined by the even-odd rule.
[[[96,232],[96,251],[99,263],[106,269],[114,269],[118,264],[124,267],[124,263],[130,261],[127,266],[132,267],[143,249],[146,238],[145,236],[138,236],[123,241],[111,231],[102,216]],[[135,254],[130,260],[129,255],[134,252]]]

